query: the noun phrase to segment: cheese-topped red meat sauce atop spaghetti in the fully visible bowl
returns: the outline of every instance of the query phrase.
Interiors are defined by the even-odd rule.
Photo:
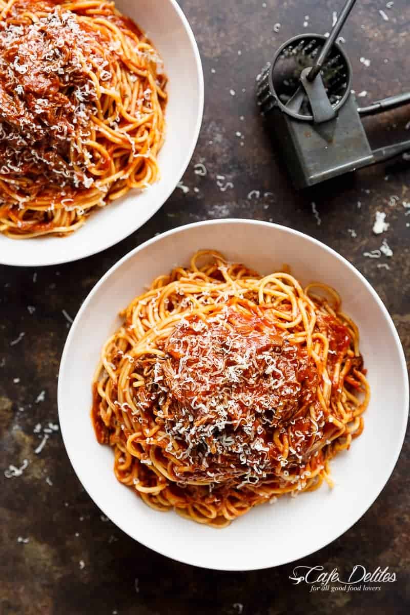
[[[164,360],[135,362],[145,384],[135,391],[139,415],[133,420],[138,431],[150,409],[178,442],[179,484],[229,483],[227,477],[256,483],[283,467],[275,431],[288,435],[290,466],[323,437],[303,417],[317,405],[315,363],[268,319],[234,308],[206,320],[190,316],[175,327],[164,351]],[[158,443],[165,457],[168,442]]]

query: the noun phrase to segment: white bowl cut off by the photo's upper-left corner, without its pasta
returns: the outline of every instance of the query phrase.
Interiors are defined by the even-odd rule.
[[[131,191],[93,212],[68,237],[9,239],[0,234],[0,263],[42,266],[90,256],[140,228],[170,196],[183,176],[199,136],[203,114],[203,73],[194,34],[176,0],[116,0],[148,34],[168,76],[167,133],[159,153],[160,180],[144,192]]]

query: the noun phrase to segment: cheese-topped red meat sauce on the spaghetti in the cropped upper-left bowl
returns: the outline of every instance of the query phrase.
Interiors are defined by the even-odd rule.
[[[44,10],[32,22],[30,7]],[[59,182],[87,188],[90,179],[68,164],[74,133],[89,137],[95,86],[80,55],[103,65],[95,41],[58,2],[18,1],[0,20],[0,161],[2,172],[36,180],[38,191]],[[69,194],[67,195],[69,196]]]

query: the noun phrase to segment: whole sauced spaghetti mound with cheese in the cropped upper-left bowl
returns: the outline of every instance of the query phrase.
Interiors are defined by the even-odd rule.
[[[104,0],[0,0],[0,231],[65,235],[159,178],[162,61]]]

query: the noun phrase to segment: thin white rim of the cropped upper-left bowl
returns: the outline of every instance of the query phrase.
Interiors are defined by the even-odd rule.
[[[10,259],[8,260],[6,254],[4,256],[0,254],[0,264],[11,266],[11,267],[48,267],[48,266],[55,266],[58,264],[73,263],[75,261],[82,260],[83,258],[88,258],[89,256],[99,254],[100,252],[103,252],[104,250],[111,248],[113,245],[119,244],[126,237],[129,237],[133,232],[138,231],[138,229],[140,229],[141,226],[143,226],[146,222],[148,222],[148,220],[151,220],[152,216],[154,216],[160,210],[160,208],[163,207],[163,205],[170,198],[171,194],[175,191],[176,187],[178,186],[179,181],[181,181],[181,178],[186,172],[189,162],[191,162],[192,156],[194,155],[194,151],[198,143],[199,133],[200,133],[200,129],[202,126],[202,121],[203,121],[203,107],[204,107],[204,101],[205,101],[205,83],[204,83],[203,66],[202,66],[202,60],[201,60],[200,53],[199,53],[199,47],[195,39],[194,33],[192,31],[191,25],[189,24],[187,17],[184,14],[181,7],[179,6],[178,2],[176,0],[167,0],[167,1],[171,4],[173,9],[175,10],[176,14],[181,20],[181,23],[184,26],[184,30],[187,33],[189,42],[192,47],[192,52],[195,58],[195,66],[196,66],[198,87],[199,87],[197,118],[196,118],[196,123],[195,123],[195,129],[194,129],[194,132],[192,133],[191,145],[187,149],[186,155],[183,159],[183,163],[181,164],[180,172],[178,176],[175,177],[175,182],[173,182],[173,184],[175,185],[171,185],[170,188],[167,190],[167,192],[165,192],[164,197],[162,197],[159,200],[159,204],[157,205],[157,207],[155,207],[153,210],[150,210],[146,215],[141,216],[141,221],[138,224],[138,226],[136,226],[136,228],[132,228],[131,226],[130,228],[128,228],[125,232],[121,233],[115,239],[112,239],[112,240],[109,239],[108,241],[104,242],[104,244],[101,244],[97,248],[92,247],[93,244],[90,242],[88,244],[88,248],[85,248],[84,253],[82,253],[81,256],[73,256],[72,258],[70,256],[68,258],[66,256],[64,258],[54,257],[50,261],[44,262],[44,260],[36,261],[35,260],[36,255],[34,254],[33,255],[34,258],[32,258],[32,255],[26,255],[25,258],[23,258],[21,261],[16,262],[15,260],[10,260]],[[61,239],[64,239],[64,237],[61,237]],[[5,252],[5,251],[2,251],[2,252]]]

